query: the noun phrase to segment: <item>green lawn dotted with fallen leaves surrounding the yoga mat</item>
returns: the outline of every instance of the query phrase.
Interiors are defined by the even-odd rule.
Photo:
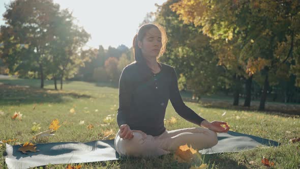
[[[45,89],[39,89],[40,81],[35,79],[0,79],[0,140],[16,138],[10,144],[23,144],[33,141],[36,133],[31,131],[33,123],[41,123],[38,132],[48,129],[50,122],[58,119],[62,126],[50,137],[50,142],[91,142],[103,139],[103,133],[118,130],[116,112],[118,108],[118,89],[107,83],[68,81],[63,91],[53,90],[53,82],[45,81]],[[211,101],[213,105],[214,101]],[[252,134],[281,143],[279,147],[257,148],[239,153],[202,155],[202,162],[208,168],[268,168],[261,163],[262,157],[273,161],[272,168],[299,168],[300,143],[290,144],[290,138],[299,137],[300,119],[298,115],[286,115],[276,111],[259,112],[253,109],[239,110],[230,106],[214,107],[202,103],[186,102],[203,118],[213,121],[226,121],[231,130]],[[72,114],[70,109],[74,108]],[[15,111],[20,111],[22,120],[13,120]],[[226,111],[225,116],[222,114]],[[300,111],[300,110],[299,110]],[[3,112],[3,113],[1,113]],[[103,119],[111,115],[113,122],[107,126]],[[168,104],[166,119],[175,117],[177,123],[166,123],[168,130],[197,127],[182,119]],[[84,125],[79,122],[84,120]],[[93,129],[87,125],[92,124]],[[35,142],[33,142],[35,143]],[[0,147],[0,168],[7,168]],[[83,168],[190,168],[200,163],[178,163],[173,154],[159,158],[123,158],[115,161],[82,163]],[[66,168],[67,164],[47,165],[44,168]]]

